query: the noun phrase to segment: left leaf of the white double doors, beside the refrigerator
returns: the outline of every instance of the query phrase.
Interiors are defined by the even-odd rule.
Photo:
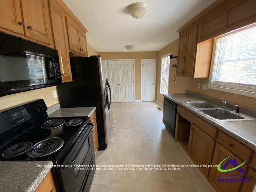
[[[118,61],[106,61],[108,66],[108,82],[111,87],[112,102],[119,102]]]

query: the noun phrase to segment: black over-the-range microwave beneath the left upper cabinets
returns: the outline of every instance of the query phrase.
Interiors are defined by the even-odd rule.
[[[0,96],[61,82],[57,50],[0,32]]]

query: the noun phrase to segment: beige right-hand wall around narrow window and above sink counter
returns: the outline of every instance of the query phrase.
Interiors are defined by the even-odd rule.
[[[175,40],[174,42],[170,43],[166,47],[162,48],[158,52],[158,67],[157,67],[157,83],[156,83],[156,99],[163,103],[163,96],[160,95],[160,72],[161,72],[161,56],[164,54],[167,54],[168,52],[171,52],[174,56],[178,54],[178,40]],[[171,65],[176,64],[177,60],[172,59]],[[234,104],[238,104],[241,106],[245,106],[247,108],[253,108],[256,109],[256,98],[251,98],[247,96],[242,96],[238,94],[232,94],[228,92],[222,92],[217,90],[202,90],[202,84],[208,84],[209,78],[189,78],[189,77],[177,77],[176,81],[174,82],[174,76],[176,74],[176,69],[170,67],[170,78],[169,78],[169,93],[184,93],[185,90],[190,90],[194,92],[198,92],[201,94],[205,94],[208,96],[212,96],[215,98],[224,98],[224,100],[228,102],[232,102]],[[201,89],[197,88],[197,84],[201,83]]]

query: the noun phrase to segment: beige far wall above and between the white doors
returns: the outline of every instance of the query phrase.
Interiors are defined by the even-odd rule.
[[[140,100],[141,59],[157,58],[158,52],[99,52],[102,59],[135,59],[135,100]]]

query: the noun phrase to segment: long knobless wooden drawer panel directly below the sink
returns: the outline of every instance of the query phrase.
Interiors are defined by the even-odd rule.
[[[217,129],[214,126],[208,124],[204,120],[200,119],[199,117],[195,116],[194,114],[192,114],[191,112],[187,111],[186,109],[180,106],[178,106],[178,112],[186,120],[198,126],[202,131],[204,131],[211,137],[216,138]]]

